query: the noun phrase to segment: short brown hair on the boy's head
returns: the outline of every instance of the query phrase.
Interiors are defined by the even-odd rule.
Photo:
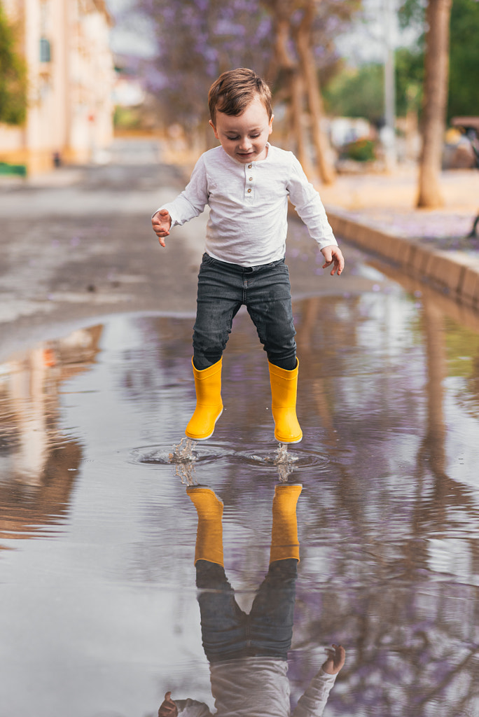
[[[208,92],[209,115],[214,124],[216,113],[242,115],[247,106],[259,97],[265,105],[268,119],[272,118],[271,90],[265,80],[247,67],[228,70],[214,80]]]

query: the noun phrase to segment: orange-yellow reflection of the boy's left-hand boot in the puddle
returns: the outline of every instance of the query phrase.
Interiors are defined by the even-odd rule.
[[[207,560],[223,565],[223,503],[218,500],[211,488],[191,485],[186,488],[198,513],[196,531],[196,549],[194,562]]]

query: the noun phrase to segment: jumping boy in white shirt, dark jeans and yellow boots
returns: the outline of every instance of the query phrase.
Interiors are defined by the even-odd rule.
[[[186,189],[151,220],[164,247],[171,227],[210,208],[191,360],[196,409],[186,436],[209,438],[222,414],[222,353],[234,315],[245,304],[267,352],[275,438],[297,443],[303,433],[296,417],[298,359],[285,265],[288,197],[323,252],[323,268],[333,265],[331,275],[341,275],[343,255],[300,163],[267,141],[273,115],[264,80],[246,68],[223,72],[208,103],[220,146],[199,158]]]

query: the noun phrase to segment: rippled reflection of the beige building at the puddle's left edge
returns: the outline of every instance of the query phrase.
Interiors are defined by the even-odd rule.
[[[101,330],[42,343],[0,367],[0,538],[44,535],[65,518],[82,449],[59,428],[61,386],[95,360]]]

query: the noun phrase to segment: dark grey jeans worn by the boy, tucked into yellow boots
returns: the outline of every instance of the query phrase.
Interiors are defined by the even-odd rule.
[[[281,259],[242,267],[203,255],[194,324],[194,366],[199,371],[222,357],[234,316],[245,304],[268,360],[291,371],[296,344],[288,267]]]

